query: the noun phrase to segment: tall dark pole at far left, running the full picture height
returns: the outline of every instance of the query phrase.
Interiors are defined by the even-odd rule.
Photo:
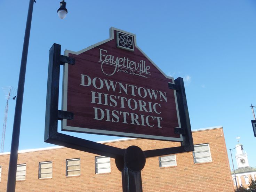
[[[33,5],[34,5],[34,0],[30,0],[29,10],[27,13],[27,22],[26,22],[26,29],[25,29],[25,35],[24,35],[22,57],[21,57],[21,68],[19,71],[18,90],[17,90],[17,97],[16,97],[14,122],[13,122],[13,135],[11,138],[11,153],[10,153],[10,161],[9,161],[7,192],[15,192],[15,185],[16,185],[19,133],[21,129],[21,113],[22,113],[23,93],[24,93],[26,65],[27,65],[27,52],[29,49],[29,37],[30,37]]]

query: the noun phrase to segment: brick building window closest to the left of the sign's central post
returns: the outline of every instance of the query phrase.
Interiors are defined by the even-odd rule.
[[[109,157],[95,157],[95,173],[110,173]]]

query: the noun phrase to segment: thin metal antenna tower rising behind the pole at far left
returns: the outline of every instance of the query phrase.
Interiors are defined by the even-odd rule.
[[[5,94],[6,105],[5,105],[5,117],[3,118],[3,130],[2,130],[2,142],[1,142],[1,153],[3,152],[3,146],[5,145],[5,130],[6,130],[6,123],[7,123],[7,114],[8,114],[8,102],[10,97],[14,96],[15,99],[17,90],[13,87],[2,87],[3,93]]]

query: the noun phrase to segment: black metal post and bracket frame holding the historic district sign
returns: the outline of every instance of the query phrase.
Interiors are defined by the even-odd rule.
[[[117,168],[122,173],[123,192],[142,192],[141,170],[145,166],[146,158],[191,152],[194,150],[182,78],[177,78],[175,84],[169,83],[167,85],[170,89],[176,90],[181,128],[176,128],[175,133],[182,134],[183,136],[181,146],[147,151],[142,151],[138,146],[129,146],[127,149],[120,149],[118,147],[58,133],[58,120],[73,119],[72,112],[58,110],[59,72],[60,65],[64,63],[74,65],[75,59],[61,55],[61,45],[54,43],[49,54],[45,142],[114,158]]]

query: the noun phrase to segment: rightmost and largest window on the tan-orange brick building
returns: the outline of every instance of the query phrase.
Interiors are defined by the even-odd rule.
[[[211,152],[209,144],[194,145],[194,163],[211,162]]]

